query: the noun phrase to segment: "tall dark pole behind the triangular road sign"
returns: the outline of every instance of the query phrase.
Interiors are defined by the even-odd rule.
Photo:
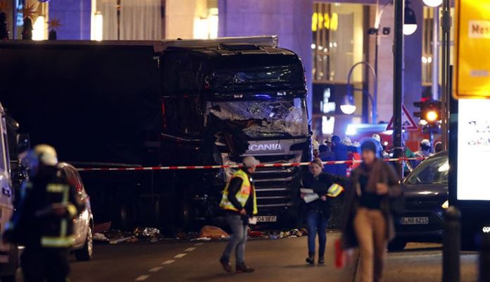
[[[395,2],[395,37],[394,37],[394,63],[393,63],[393,147],[394,158],[402,157],[401,145],[401,104],[403,102],[403,19],[405,13],[405,0]],[[396,163],[398,175],[403,177],[403,164]]]

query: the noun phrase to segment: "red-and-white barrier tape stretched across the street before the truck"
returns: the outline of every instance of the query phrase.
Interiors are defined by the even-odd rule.
[[[398,158],[384,159],[384,161],[422,161],[425,157],[417,158]],[[324,165],[331,164],[359,164],[363,161],[323,161]],[[310,162],[286,163],[286,164],[259,164],[257,167],[281,167],[281,166],[308,166]],[[77,171],[172,171],[186,169],[220,169],[220,168],[241,168],[241,164],[218,165],[218,166],[146,166],[146,167],[124,167],[124,168],[77,168]]]

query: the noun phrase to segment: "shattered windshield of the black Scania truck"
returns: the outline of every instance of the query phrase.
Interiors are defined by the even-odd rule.
[[[222,121],[241,123],[249,137],[308,135],[304,98],[208,102],[207,114]]]

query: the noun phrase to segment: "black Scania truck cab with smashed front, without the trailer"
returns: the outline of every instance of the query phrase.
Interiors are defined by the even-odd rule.
[[[162,159],[178,165],[236,165],[246,156],[262,164],[310,161],[304,68],[294,52],[274,42],[191,42],[165,49],[160,64]],[[179,177],[177,186],[191,191],[194,208],[177,210],[194,219],[217,216],[233,173],[225,168]],[[258,221],[294,222],[301,168],[258,168],[253,178]]]

